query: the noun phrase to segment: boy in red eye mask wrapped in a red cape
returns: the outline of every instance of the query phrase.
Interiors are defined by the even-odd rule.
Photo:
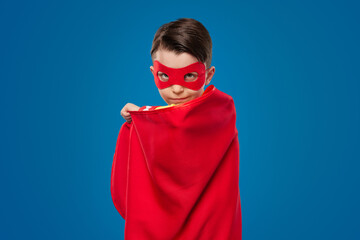
[[[150,70],[168,106],[123,107],[112,166],[125,239],[241,239],[235,106],[214,85],[204,90],[211,48],[194,19],[155,34]]]

